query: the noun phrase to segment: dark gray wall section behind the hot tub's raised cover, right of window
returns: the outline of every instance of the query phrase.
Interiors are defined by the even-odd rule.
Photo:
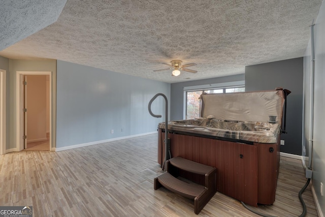
[[[245,67],[245,90],[283,87],[291,91],[287,98],[286,132],[281,152],[302,154],[303,57]]]

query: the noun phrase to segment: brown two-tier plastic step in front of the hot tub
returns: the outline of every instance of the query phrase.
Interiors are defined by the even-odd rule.
[[[194,199],[194,213],[199,214],[204,206],[217,192],[217,170],[215,167],[199,164],[180,157],[172,158],[167,161],[167,172],[154,178],[154,190],[161,186],[166,189]],[[194,183],[187,183],[177,179],[168,171],[171,167],[176,167],[185,171],[205,176],[205,186]]]

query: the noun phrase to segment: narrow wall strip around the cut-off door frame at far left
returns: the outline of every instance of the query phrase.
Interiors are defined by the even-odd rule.
[[[6,70],[6,149],[9,148],[9,59],[0,56],[0,69]]]

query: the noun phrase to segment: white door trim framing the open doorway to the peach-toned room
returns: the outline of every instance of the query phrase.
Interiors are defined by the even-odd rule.
[[[52,148],[52,72],[50,71],[17,71],[16,72],[16,144],[17,151],[24,149],[23,141],[23,94],[22,94],[22,78],[24,75],[49,75],[49,84],[50,84],[50,150],[55,150]]]

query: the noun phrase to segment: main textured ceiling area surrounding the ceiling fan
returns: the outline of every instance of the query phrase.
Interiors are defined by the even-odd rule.
[[[245,66],[303,56],[321,2],[68,0],[56,22],[0,55],[60,59],[169,83],[241,74]],[[189,69],[198,73],[153,72],[173,59],[196,63]]]

